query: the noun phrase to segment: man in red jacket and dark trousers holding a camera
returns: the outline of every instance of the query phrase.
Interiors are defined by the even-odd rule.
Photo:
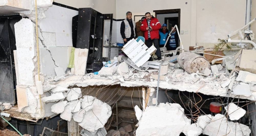
[[[154,47],[157,49],[157,59],[161,60],[161,51],[159,47],[159,29],[161,28],[161,24],[157,18],[151,17],[149,12],[145,13],[145,17],[146,19],[143,20],[140,30],[144,32],[148,48],[154,43]]]

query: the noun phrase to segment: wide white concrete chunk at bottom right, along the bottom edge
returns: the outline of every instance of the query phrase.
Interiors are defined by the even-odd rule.
[[[251,130],[248,126],[227,121],[222,114],[212,117],[211,122],[203,130],[203,134],[208,136],[250,136],[250,133]]]

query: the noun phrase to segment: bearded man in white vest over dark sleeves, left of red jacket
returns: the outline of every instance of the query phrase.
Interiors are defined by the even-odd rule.
[[[126,12],[126,19],[122,21],[120,27],[120,33],[125,44],[135,38],[135,22],[131,19],[131,15],[130,11]]]

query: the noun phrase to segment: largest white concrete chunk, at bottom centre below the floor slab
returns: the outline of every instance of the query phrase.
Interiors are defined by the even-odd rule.
[[[160,103],[145,109],[136,130],[136,136],[179,136],[190,119],[177,103]],[[154,122],[154,123],[152,123]]]

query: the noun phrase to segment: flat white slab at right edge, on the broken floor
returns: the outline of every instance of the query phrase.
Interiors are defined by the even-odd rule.
[[[256,84],[256,74],[240,70],[236,80],[244,83]]]

